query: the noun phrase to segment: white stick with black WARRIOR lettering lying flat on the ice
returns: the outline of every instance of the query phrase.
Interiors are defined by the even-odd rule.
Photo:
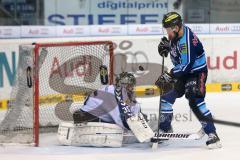
[[[205,132],[201,129],[196,133],[160,133],[151,139],[151,142],[158,143],[162,140],[199,140],[205,135]]]

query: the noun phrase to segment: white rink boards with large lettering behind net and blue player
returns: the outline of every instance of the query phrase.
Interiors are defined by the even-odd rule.
[[[17,72],[20,44],[111,40],[115,43],[114,74],[129,71],[135,74],[137,86],[152,86],[161,74],[162,59],[157,52],[160,39],[161,35],[0,40],[0,97],[1,99],[10,97]],[[210,84],[207,91],[238,91],[239,83],[232,82],[240,82],[240,47],[238,45],[240,38],[234,35],[199,35],[199,39],[206,51],[207,83]],[[166,58],[165,67],[167,70],[173,67],[169,57]],[[211,83],[217,83],[217,85],[211,86]],[[152,87],[144,87],[140,90],[144,95],[156,95],[158,92]]]

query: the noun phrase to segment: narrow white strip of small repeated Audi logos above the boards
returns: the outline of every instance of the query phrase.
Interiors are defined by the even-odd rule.
[[[196,34],[240,34],[240,23],[185,24]],[[163,35],[161,24],[2,26],[0,39],[82,36]]]

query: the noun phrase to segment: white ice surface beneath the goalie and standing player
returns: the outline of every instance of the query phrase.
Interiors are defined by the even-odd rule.
[[[216,119],[240,123],[240,93],[207,93],[206,103]],[[143,112],[153,115],[158,112],[159,97],[138,99]],[[174,105],[173,128],[178,132],[196,132],[200,124],[190,112],[185,98]],[[40,147],[1,146],[1,160],[239,160],[240,128],[216,124],[223,148],[209,150],[205,146],[207,137],[201,140],[167,141],[152,150],[149,143],[124,145],[122,148],[92,148],[60,146],[56,134],[41,135]]]

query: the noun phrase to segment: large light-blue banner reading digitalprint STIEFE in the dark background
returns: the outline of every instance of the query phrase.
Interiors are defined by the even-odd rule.
[[[71,3],[45,0],[45,25],[160,24],[172,3],[171,0],[71,0]]]

